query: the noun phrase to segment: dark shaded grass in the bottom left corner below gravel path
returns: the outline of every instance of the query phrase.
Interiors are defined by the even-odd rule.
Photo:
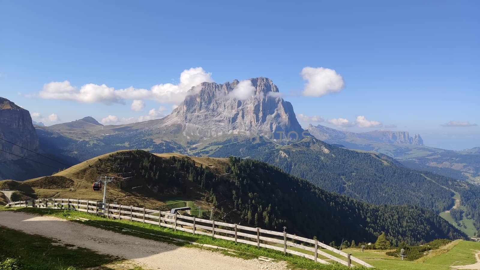
[[[59,245],[54,239],[2,226],[0,226],[0,243],[0,262],[7,258],[16,259],[16,265],[22,270],[92,268],[119,260],[87,248]]]

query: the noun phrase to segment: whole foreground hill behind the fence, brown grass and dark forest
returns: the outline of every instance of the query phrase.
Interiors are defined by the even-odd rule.
[[[16,184],[32,197],[50,194],[76,198],[84,190],[83,197],[100,198],[100,192],[91,191],[91,179],[110,175],[117,179],[109,185],[110,201],[150,209],[187,203],[203,209],[214,207],[216,220],[275,231],[286,226],[290,233],[317,236],[325,243],[340,242],[342,238],[357,243],[374,242],[382,232],[394,244],[467,237],[431,210],[412,205],[370,205],[324,191],[256,160],[157,156],[133,150],[103,155],[75,168],[80,172],[59,172],[50,180],[1,181],[0,186],[11,188]],[[134,177],[122,180],[120,175],[133,171]],[[72,183],[65,186],[57,183],[60,179],[64,183],[65,178],[72,179]],[[132,187],[138,188],[132,190]],[[192,214],[197,213],[192,211]],[[206,216],[208,212],[202,214]]]

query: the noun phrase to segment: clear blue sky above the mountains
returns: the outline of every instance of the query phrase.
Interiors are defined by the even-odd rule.
[[[180,73],[202,67],[217,83],[271,78],[305,116],[303,126],[322,116],[320,124],[338,129],[420,133],[426,145],[447,149],[480,146],[479,1],[1,0],[0,6],[0,96],[46,124],[87,115],[140,119],[151,109],[159,117],[175,102],[142,99],[135,111],[130,99],[106,105],[40,98],[44,84],[150,89],[178,85]],[[335,70],[345,87],[302,95],[308,81],[300,73],[308,66]],[[52,113],[57,118],[49,119]],[[381,126],[332,121],[358,116]],[[450,121],[456,126],[442,126]],[[467,123],[477,125],[458,126]]]

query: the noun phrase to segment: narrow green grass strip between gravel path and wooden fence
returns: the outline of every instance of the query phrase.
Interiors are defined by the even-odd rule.
[[[303,257],[291,255],[291,254],[284,255],[282,252],[279,252],[276,250],[258,248],[256,246],[246,245],[241,243],[235,244],[235,242],[233,241],[213,238],[211,236],[192,234],[192,233],[181,232],[181,231],[174,232],[173,229],[166,228],[166,227],[159,227],[158,225],[135,222],[135,221],[112,220],[112,219],[107,219],[103,216],[97,217],[93,214],[87,214],[84,212],[77,212],[72,210],[52,210],[52,209],[37,209],[37,208],[5,208],[5,207],[0,207],[0,210],[11,210],[11,211],[35,213],[39,215],[50,215],[50,216],[55,216],[62,219],[66,219],[65,216],[69,216],[69,215],[71,217],[80,217],[80,218],[89,219],[89,220],[84,222],[73,220],[73,222],[79,222],[84,225],[94,226],[94,227],[102,228],[102,229],[117,232],[117,233],[128,234],[128,235],[133,235],[133,236],[137,236],[145,239],[168,242],[171,244],[187,246],[187,247],[198,247],[198,245],[186,245],[184,243],[172,242],[166,237],[178,238],[178,239],[191,241],[199,244],[209,244],[209,245],[215,245],[219,247],[225,247],[225,248],[235,250],[237,253],[236,257],[257,258],[259,256],[264,256],[264,257],[273,258],[276,260],[283,260],[283,261],[286,261],[288,263],[288,266],[292,269],[321,269],[321,270],[348,270],[349,269],[348,267],[345,267],[339,264],[324,265],[320,263],[315,263],[314,261],[307,258],[303,258]],[[140,231],[142,233],[122,231],[122,229],[124,228]],[[150,235],[146,233],[153,233],[155,235]],[[228,255],[231,256],[231,254],[228,254]],[[359,268],[359,269],[365,269],[365,268]]]

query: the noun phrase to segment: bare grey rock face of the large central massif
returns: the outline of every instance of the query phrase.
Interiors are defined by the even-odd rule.
[[[202,83],[192,88],[191,95],[165,117],[161,125],[180,124],[185,135],[209,130],[213,135],[245,132],[269,137],[273,134],[276,139],[282,139],[289,132],[296,132],[301,136],[303,129],[291,103],[280,97],[272,80],[259,77],[250,81],[255,90],[246,99],[232,97],[232,91],[240,83],[238,80],[224,84]],[[198,87],[201,90],[198,91]]]

